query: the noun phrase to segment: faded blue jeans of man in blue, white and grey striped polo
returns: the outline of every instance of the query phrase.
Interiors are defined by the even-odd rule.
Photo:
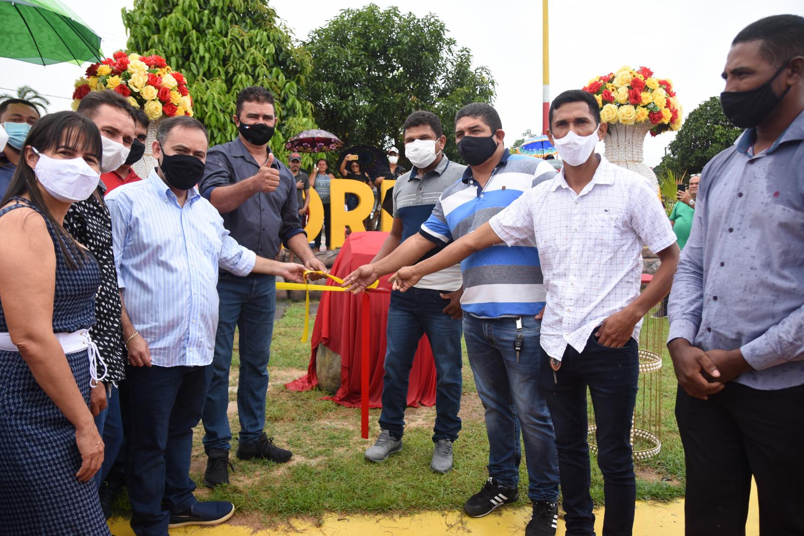
[[[522,324],[524,346],[518,359],[514,318],[463,318],[469,364],[486,410],[489,475],[508,487],[519,484],[521,431],[529,480],[527,497],[534,502],[555,502],[556,441],[544,394],[539,389],[540,324],[532,316],[523,316]]]

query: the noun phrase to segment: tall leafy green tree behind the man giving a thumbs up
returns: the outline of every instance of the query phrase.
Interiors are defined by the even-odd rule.
[[[123,9],[123,23],[130,52],[159,54],[187,77],[195,117],[211,144],[236,137],[236,97],[249,85],[276,98],[271,148],[279,158],[286,161],[287,138],[315,127],[313,106],[300,97],[310,55],[265,0],[134,0],[132,10]]]

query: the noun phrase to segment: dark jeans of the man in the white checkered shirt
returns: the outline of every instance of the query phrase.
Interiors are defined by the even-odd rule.
[[[639,377],[637,341],[630,338],[622,348],[608,348],[593,333],[583,352],[567,347],[555,379],[550,357],[544,353],[540,375],[556,428],[567,536],[595,534],[589,495],[587,386],[597,425],[597,466],[604,481],[603,536],[631,534],[637,497],[630,444]]]

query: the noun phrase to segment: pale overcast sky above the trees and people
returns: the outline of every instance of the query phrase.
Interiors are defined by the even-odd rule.
[[[125,48],[121,9],[133,0],[63,0],[103,39],[106,56]],[[275,0],[269,2],[297,39],[347,7],[368,2]],[[487,0],[408,0],[375,2],[399,6],[417,15],[437,14],[461,46],[469,47],[476,65],[490,68],[497,81],[494,102],[510,145],[524,130],[541,131],[541,2]],[[609,6],[609,7],[606,7]],[[720,72],[734,35],[747,24],[771,14],[804,14],[802,0],[673,0],[638,4],[592,0],[550,2],[550,96],[580,88],[589,78],[624,64],[646,65],[670,78],[685,112],[723,89]],[[181,70],[181,65],[172,67]],[[54,97],[50,111],[68,109],[72,85],[85,68],[73,64],[47,68],[0,58],[0,90],[31,85]],[[449,126],[448,126],[449,129]],[[449,130],[448,130],[449,131]],[[674,134],[647,139],[645,161],[656,165]]]

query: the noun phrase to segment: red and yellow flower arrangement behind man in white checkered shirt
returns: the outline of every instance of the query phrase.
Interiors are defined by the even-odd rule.
[[[649,68],[634,70],[626,65],[589,80],[583,90],[597,99],[601,121],[623,125],[650,122],[651,136],[681,128],[682,108],[672,82],[657,78]]]

